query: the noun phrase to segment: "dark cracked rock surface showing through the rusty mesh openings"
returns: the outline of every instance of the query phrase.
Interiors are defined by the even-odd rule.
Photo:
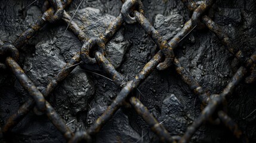
[[[42,2],[37,1],[32,7],[21,12],[20,10],[29,5],[30,1],[1,1],[0,38],[15,41],[17,36],[42,14]],[[66,11],[70,11],[70,15],[72,15],[76,5],[79,5],[80,2],[74,0]],[[245,52],[246,56],[255,51],[255,4],[253,0],[218,0],[211,8],[211,11],[214,11],[214,14],[211,14],[212,19],[215,23],[220,24],[235,46]],[[171,39],[190,16],[180,1],[143,1],[143,5],[145,16],[166,40]],[[121,7],[121,1],[84,1],[73,20],[87,35],[98,36],[99,33],[104,32],[107,24],[120,14]],[[101,20],[103,17],[105,18]],[[94,24],[93,21],[97,20],[100,21]],[[67,30],[64,33],[65,29],[66,24],[62,21],[48,24],[20,50],[19,63],[27,74],[30,73],[31,76],[35,74],[33,82],[36,82],[39,89],[42,89],[48,79],[55,75],[54,72],[59,70],[82,46],[72,32]],[[131,43],[129,48],[127,41]],[[44,56],[36,55],[36,51],[40,50],[39,53],[42,55],[47,53],[48,57],[57,59],[58,64],[52,66],[53,63],[46,62],[47,58],[45,64],[53,70],[36,75],[37,72],[43,73],[42,71],[46,70],[42,66],[36,67],[33,69],[34,71],[30,69],[30,65],[35,63],[32,61],[45,59]],[[115,67],[118,67],[118,71],[127,80],[131,80],[159,49],[140,26],[125,24],[115,38],[107,43],[107,50],[110,61]],[[224,49],[214,33],[207,29],[193,30],[179,43],[175,55],[202,87],[211,94],[219,94],[240,66],[238,61]],[[28,62],[28,60],[30,61]],[[78,68],[80,69],[80,67]],[[67,123],[76,119],[75,122],[67,125],[73,131],[88,129],[120,91],[119,87],[105,77],[90,72],[84,73],[78,68],[57,87],[54,96],[50,98],[51,104]],[[104,72],[97,71],[97,73],[107,77]],[[46,74],[48,75],[45,76]],[[86,77],[86,79],[82,77]],[[88,84],[76,85],[74,83],[76,79],[79,79],[80,83],[88,81],[83,82]],[[22,91],[22,88],[18,88],[20,86],[15,81],[16,79],[11,73],[0,74],[1,125],[17,111],[27,98],[26,92]],[[14,85],[16,91],[14,91]],[[88,98],[84,101],[76,102],[78,98],[81,98],[78,96],[80,87],[85,87],[82,90],[91,95],[86,95]],[[256,141],[256,116],[255,113],[252,113],[256,102],[254,87],[255,83],[246,85],[242,82],[233,94],[227,97],[229,116],[238,123],[239,128],[248,136],[250,142]],[[173,67],[165,71],[154,70],[138,89],[140,92],[135,91],[135,95],[140,98],[153,116],[162,122],[171,135],[183,135],[187,126],[196,120],[201,111],[198,98],[181,80]],[[63,94],[66,92],[70,94],[66,94],[63,98]],[[73,96],[78,96],[72,101],[76,104],[73,105],[71,101],[63,102]],[[85,104],[83,105],[82,102]],[[250,113],[252,114],[249,115]],[[31,125],[28,126],[29,123]],[[11,135],[14,136],[9,138],[11,142],[65,142],[63,136],[48,121],[47,117],[35,116],[32,112],[12,130]],[[141,136],[143,136],[143,142],[158,142],[158,137],[150,131],[147,124],[135,114],[134,110],[121,108],[96,135],[94,142],[142,142],[140,141]],[[206,124],[195,133],[192,142],[238,141],[227,128],[224,128],[224,125]]]

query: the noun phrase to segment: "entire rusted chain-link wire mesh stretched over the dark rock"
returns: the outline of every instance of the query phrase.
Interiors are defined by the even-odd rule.
[[[39,111],[42,113],[46,113],[48,119],[51,120],[53,125],[65,136],[67,141],[69,142],[91,142],[91,135],[99,132],[101,127],[115,114],[115,112],[125,103],[126,100],[132,105],[132,107],[137,111],[137,114],[145,120],[145,122],[150,126],[153,132],[159,136],[159,139],[163,142],[175,142],[174,139],[169,135],[167,130],[150,114],[149,110],[135,97],[130,97],[127,99],[132,91],[140,85],[143,80],[152,73],[153,70],[159,69],[164,70],[167,67],[174,64],[177,73],[181,76],[181,79],[187,85],[189,85],[190,89],[198,95],[203,105],[206,107],[203,109],[202,114],[196,119],[192,125],[187,129],[184,136],[180,139],[180,142],[189,142],[193,133],[202,125],[202,123],[211,120],[211,116],[214,113],[218,114],[221,122],[226,125],[237,138],[242,139],[242,141],[248,142],[246,138],[242,135],[242,132],[238,129],[238,126],[233,122],[233,120],[222,110],[219,110],[219,107],[225,101],[227,95],[232,94],[235,87],[242,81],[245,77],[248,69],[251,70],[250,76],[246,77],[247,83],[252,83],[256,79],[256,69],[255,69],[255,61],[256,61],[256,51],[249,58],[245,58],[243,53],[232,45],[229,37],[222,32],[220,26],[214,23],[206,15],[203,15],[206,10],[208,10],[211,5],[215,2],[214,0],[206,0],[202,2],[201,5],[197,7],[196,3],[192,0],[181,0],[186,7],[193,12],[192,18],[187,21],[184,25],[183,29],[174,36],[174,38],[169,41],[165,41],[162,36],[154,29],[154,27],[150,24],[146,17],[144,17],[143,13],[143,5],[140,0],[128,0],[122,1],[124,4],[122,5],[121,14],[109,24],[106,32],[101,34],[98,38],[89,38],[85,33],[78,27],[78,25],[71,21],[71,17],[69,14],[64,11],[64,8],[70,4],[71,0],[51,0],[51,4],[53,7],[49,8],[42,17],[39,17],[38,20],[33,23],[29,29],[23,32],[19,38],[16,39],[16,42],[12,45],[8,42],[0,41],[0,54],[5,55],[6,64],[13,71],[14,76],[17,77],[21,86],[29,92],[29,95],[32,98],[29,98],[27,102],[25,102],[18,109],[16,114],[13,114],[8,121],[5,123],[4,128],[2,128],[3,133],[7,133],[8,130],[13,128],[20,122],[21,119],[36,105]],[[140,12],[138,12],[138,11]],[[134,17],[131,17],[130,14],[133,14]],[[84,43],[81,51],[77,52],[70,61],[64,66],[57,75],[50,80],[47,87],[42,91],[38,91],[35,85],[33,85],[32,81],[26,76],[21,67],[17,64],[18,60],[18,50],[16,48],[20,48],[24,45],[30,38],[32,38],[35,33],[41,29],[44,24],[47,22],[53,23],[62,18],[67,24],[69,24],[69,29],[78,37],[78,39]],[[186,35],[188,35],[191,30],[193,30],[198,24],[200,24],[200,20],[208,27],[209,30],[215,33],[218,38],[223,42],[226,46],[227,50],[231,52],[239,61],[241,61],[242,66],[236,72],[236,74],[232,77],[230,82],[227,84],[226,88],[221,92],[218,96],[212,96],[212,99],[209,98],[209,93],[206,92],[202,86],[190,75],[189,71],[184,69],[181,65],[180,61],[174,57],[173,50],[177,48],[178,42],[180,42]],[[155,41],[156,45],[161,49],[158,51],[155,56],[143,67],[140,73],[135,76],[134,79],[126,82],[124,76],[122,76],[118,71],[116,71],[115,67],[110,63],[109,60],[104,57],[104,49],[105,45],[110,39],[115,35],[115,33],[120,29],[122,23],[128,24],[140,24],[141,27],[148,33],[148,35]],[[98,45],[98,49],[95,49],[95,46]],[[94,57],[90,57],[90,54],[94,53]],[[11,57],[9,57],[11,56]],[[162,58],[165,58],[165,61],[161,63]],[[63,120],[58,116],[55,112],[54,108],[51,107],[50,103],[45,100],[45,97],[53,92],[54,88],[64,80],[69,73],[75,69],[75,67],[84,62],[87,65],[96,66],[100,65],[103,67],[102,70],[106,71],[109,75],[110,79],[113,82],[122,88],[121,92],[116,96],[115,100],[112,104],[107,107],[107,110],[98,117],[96,122],[90,126],[87,132],[79,131],[75,134],[67,128],[66,124]],[[0,63],[0,69],[6,69],[5,64]],[[1,129],[1,128],[0,128]],[[0,132],[0,133],[2,133]]]

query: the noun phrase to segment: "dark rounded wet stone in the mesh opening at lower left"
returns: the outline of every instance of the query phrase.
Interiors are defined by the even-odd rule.
[[[60,83],[53,96],[55,110],[67,123],[75,119],[75,122],[71,124],[76,125],[76,127],[73,127],[75,129],[84,128],[84,123],[76,117],[79,113],[84,114],[88,110],[88,104],[95,91],[94,83],[87,73],[79,69],[78,66]]]

